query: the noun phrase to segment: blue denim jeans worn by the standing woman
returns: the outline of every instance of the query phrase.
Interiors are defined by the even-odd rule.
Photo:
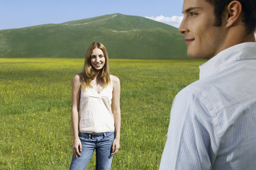
[[[91,159],[94,149],[96,149],[96,170],[111,169],[113,155],[111,148],[115,138],[114,132],[104,132],[100,134],[79,132],[79,139],[82,142],[81,157],[72,157],[69,170],[86,169]]]

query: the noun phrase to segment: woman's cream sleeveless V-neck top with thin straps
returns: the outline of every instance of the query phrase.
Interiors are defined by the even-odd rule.
[[[81,89],[79,132],[99,133],[115,130],[111,111],[112,84],[101,93],[90,87]]]

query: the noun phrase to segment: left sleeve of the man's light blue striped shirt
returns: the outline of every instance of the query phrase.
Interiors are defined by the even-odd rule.
[[[211,116],[189,91],[174,99],[160,170],[211,169],[213,138]]]

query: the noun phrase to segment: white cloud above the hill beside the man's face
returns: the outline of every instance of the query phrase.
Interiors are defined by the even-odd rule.
[[[159,21],[161,23],[167,23],[168,25],[170,26],[174,26],[176,28],[179,28],[179,25],[182,23],[182,19],[183,19],[183,16],[171,16],[171,17],[167,17],[167,16],[151,16],[151,17],[148,17],[146,16],[145,18],[149,18],[149,19],[152,19],[152,20],[155,20],[155,21]]]

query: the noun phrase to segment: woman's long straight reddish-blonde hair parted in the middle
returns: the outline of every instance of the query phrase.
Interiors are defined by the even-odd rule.
[[[110,74],[109,74],[109,66],[108,66],[108,52],[106,51],[106,47],[101,44],[101,42],[93,42],[88,50],[87,55],[84,60],[84,68],[82,70],[82,89],[84,90],[87,86],[91,87],[91,81],[96,77],[98,73],[94,67],[91,66],[91,53],[95,48],[99,48],[102,50],[105,57],[104,67],[99,71],[99,77],[104,87],[106,87],[110,83]]]

